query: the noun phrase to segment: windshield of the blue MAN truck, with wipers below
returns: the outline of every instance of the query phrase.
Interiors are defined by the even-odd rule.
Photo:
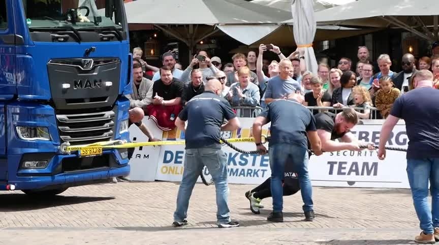
[[[22,0],[29,29],[124,30],[122,0]]]

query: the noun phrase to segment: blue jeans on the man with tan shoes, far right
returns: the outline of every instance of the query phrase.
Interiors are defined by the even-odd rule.
[[[434,227],[439,227],[439,158],[407,159],[406,170],[419,227],[424,233],[433,234]],[[428,180],[431,211],[428,205]]]

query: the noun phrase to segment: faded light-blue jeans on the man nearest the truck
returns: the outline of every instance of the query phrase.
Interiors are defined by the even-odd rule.
[[[203,167],[206,166],[215,182],[216,189],[216,219],[218,223],[227,224],[230,220],[230,210],[227,204],[229,186],[227,182],[227,155],[217,148],[186,149],[184,157],[183,178],[177,195],[177,208],[174,221],[182,222],[187,218],[187,208],[195,183]]]

